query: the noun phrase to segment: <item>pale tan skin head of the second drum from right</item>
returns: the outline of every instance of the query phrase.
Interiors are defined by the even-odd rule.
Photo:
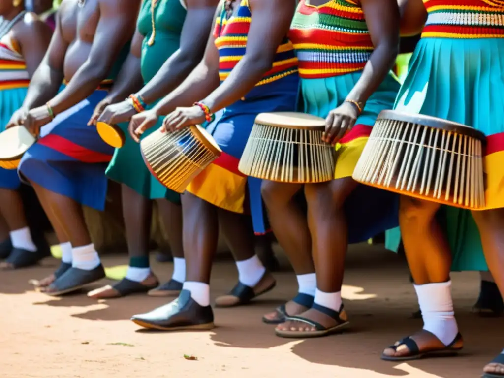
[[[286,129],[324,129],[326,127],[324,118],[291,111],[259,113],[255,123]]]

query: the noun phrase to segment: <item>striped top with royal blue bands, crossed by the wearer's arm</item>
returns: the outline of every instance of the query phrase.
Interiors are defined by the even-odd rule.
[[[224,81],[245,55],[247,35],[250,28],[250,8],[248,0],[241,0],[239,9],[234,16],[226,18],[223,9],[215,23],[215,45],[219,49],[219,77]],[[262,85],[274,82],[283,77],[297,73],[297,58],[292,43],[285,37],[278,46],[273,66],[262,80],[256,84]]]

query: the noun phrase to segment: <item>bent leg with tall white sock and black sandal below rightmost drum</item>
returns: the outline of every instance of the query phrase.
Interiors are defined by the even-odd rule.
[[[383,359],[416,359],[462,349],[451,296],[451,252],[435,218],[438,208],[435,203],[401,198],[399,223],[424,325],[421,331],[385,349]]]

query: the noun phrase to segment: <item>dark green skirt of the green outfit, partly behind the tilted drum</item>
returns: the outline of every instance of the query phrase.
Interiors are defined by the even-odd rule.
[[[159,129],[163,123],[163,119],[164,117],[160,117],[154,127],[145,131],[142,138]],[[164,198],[173,203],[180,203],[180,195],[169,190],[151,174],[142,158],[140,144],[130,137],[128,125],[129,123],[127,122],[118,124],[125,135],[125,141],[121,148],[115,149],[112,160],[106,170],[107,177],[131,187],[145,198],[151,200]]]

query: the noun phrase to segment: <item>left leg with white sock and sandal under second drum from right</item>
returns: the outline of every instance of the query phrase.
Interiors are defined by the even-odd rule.
[[[311,258],[311,236],[306,215],[296,194],[302,185],[264,180],[261,187],[271,227],[284,249],[298,281],[298,294],[263,317],[267,324],[279,324],[313,303],[317,278]]]

